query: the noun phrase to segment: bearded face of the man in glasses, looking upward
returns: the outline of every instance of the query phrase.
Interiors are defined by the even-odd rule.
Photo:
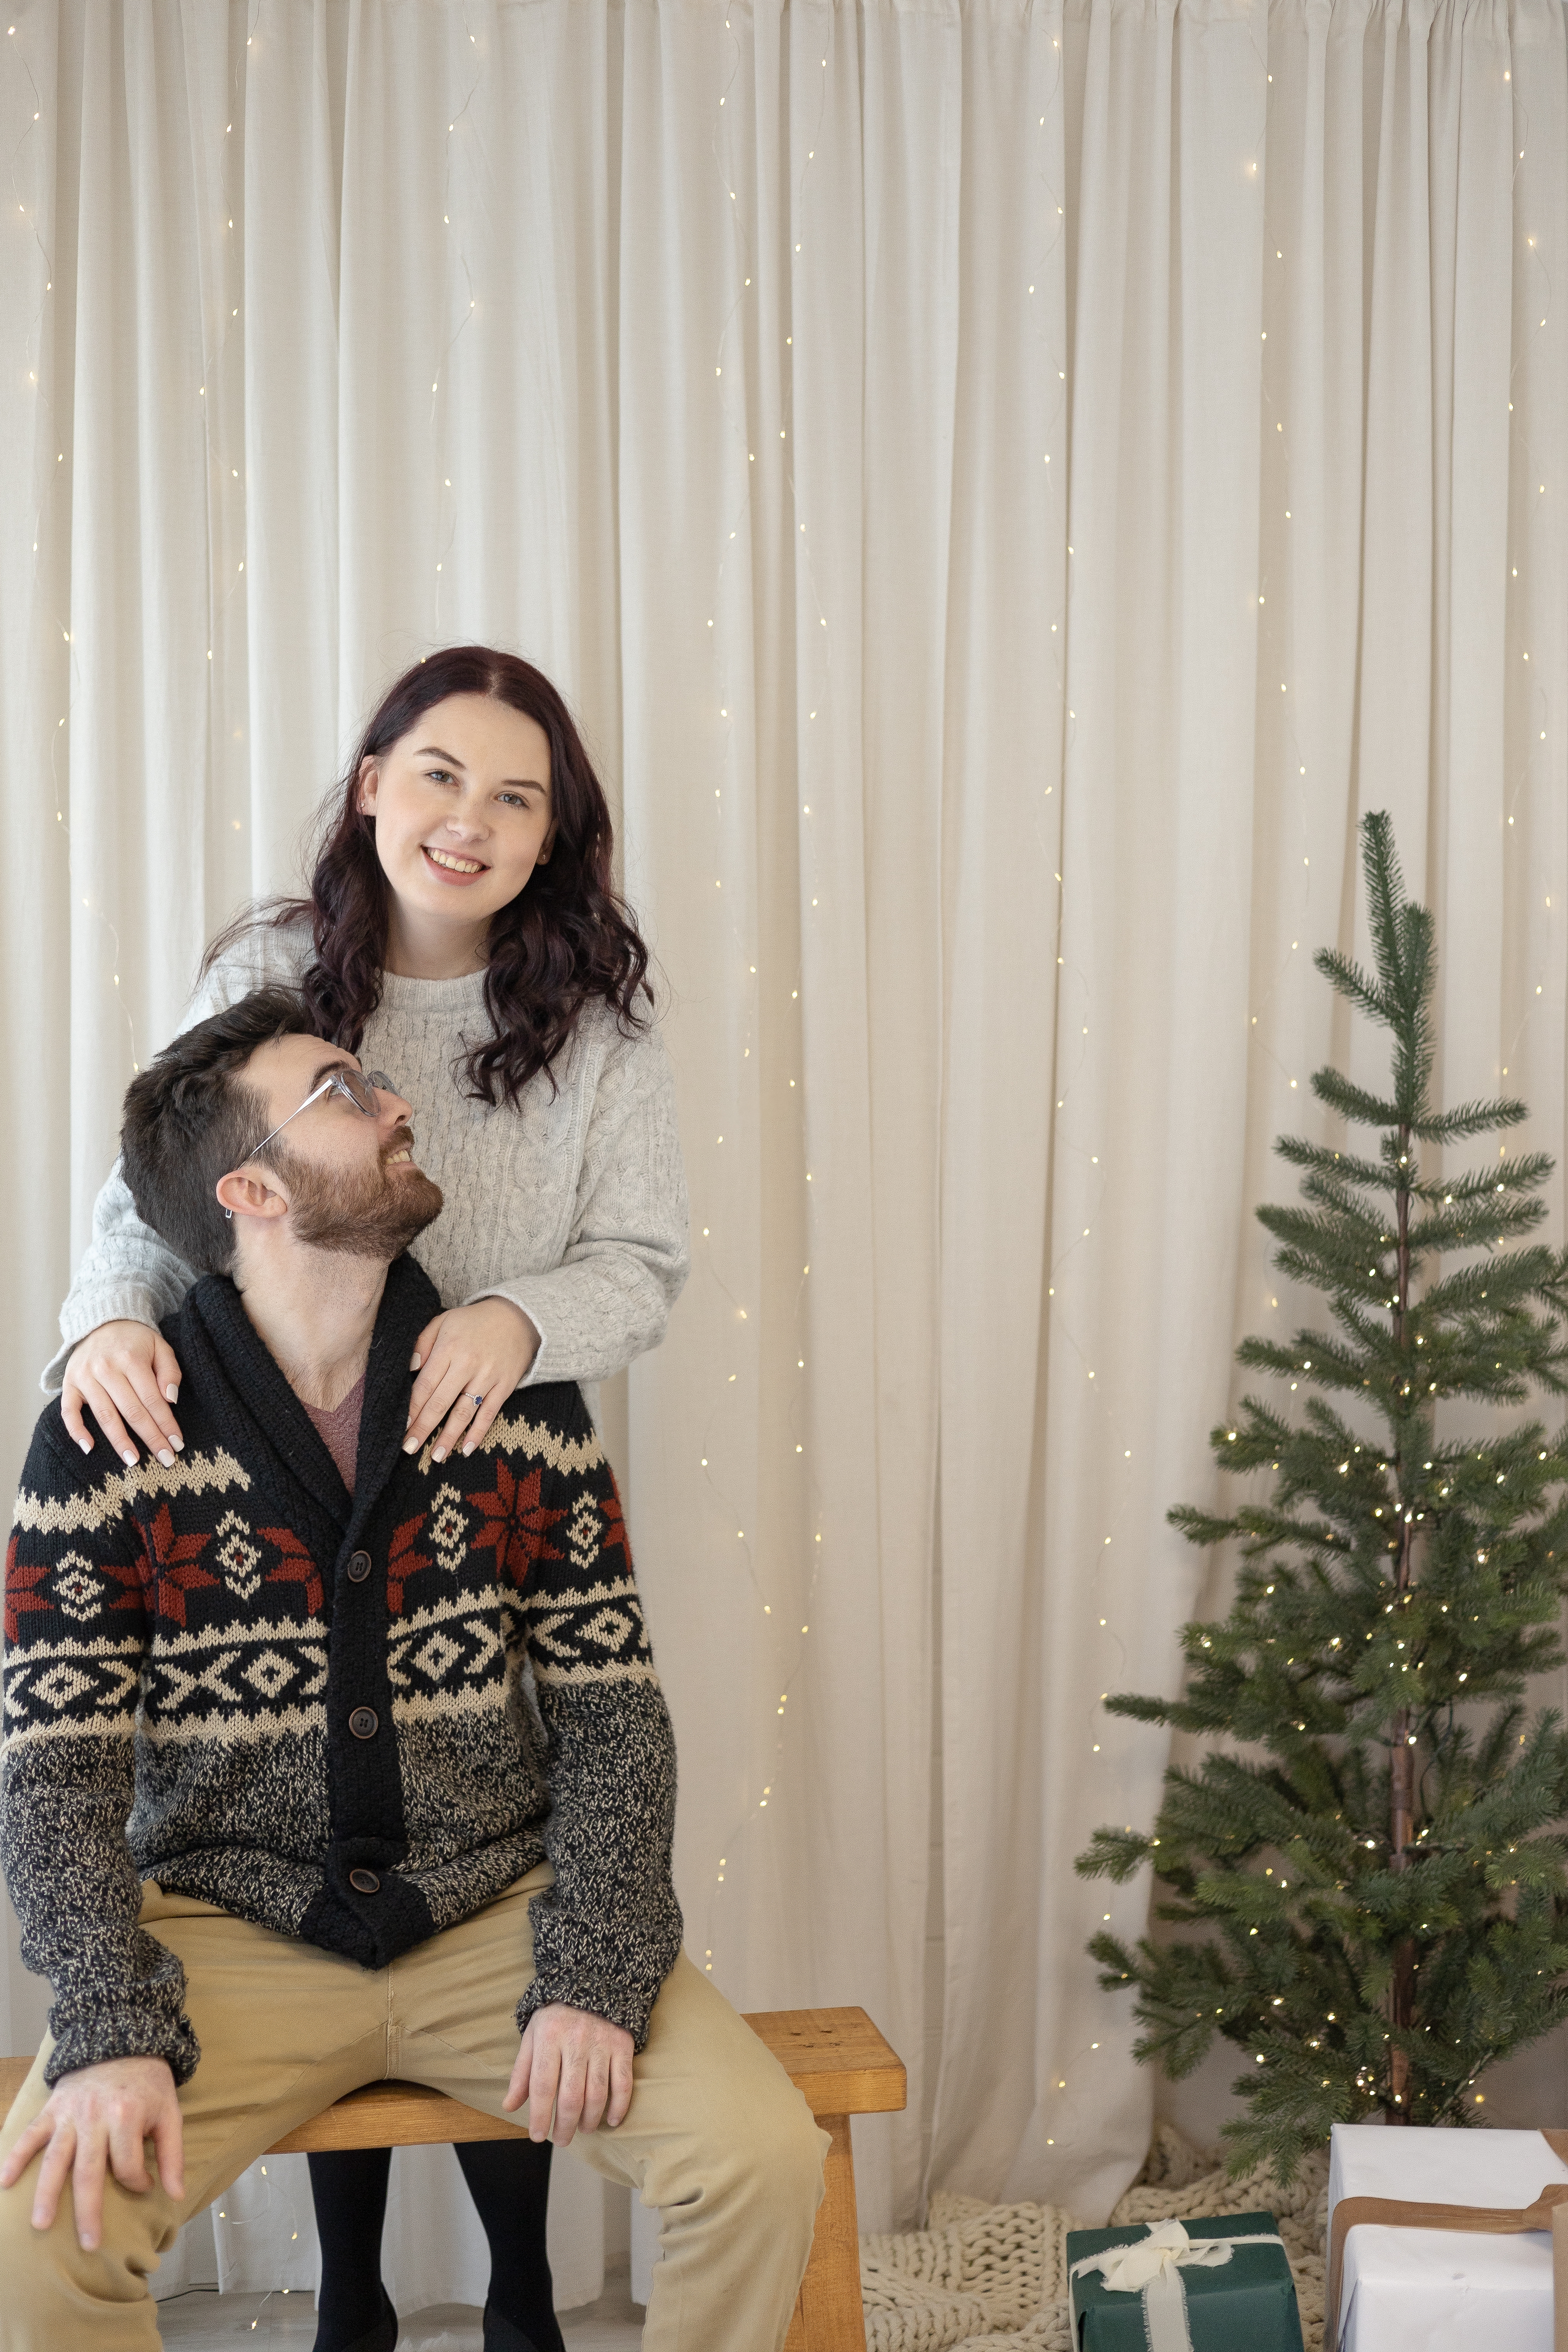
[[[381,1089],[374,1117],[339,1089],[299,1110],[339,1068],[360,1063],[320,1037],[277,1037],[252,1054],[244,1077],[268,1105],[268,1129],[289,1120],[252,1169],[287,1197],[296,1242],[390,1263],[440,1216],[442,1192],[414,1162],[400,1094]]]

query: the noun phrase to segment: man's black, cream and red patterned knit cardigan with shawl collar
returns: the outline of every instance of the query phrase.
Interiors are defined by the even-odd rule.
[[[141,1879],[378,1969],[548,1858],[520,2030],[569,2002],[646,2039],[682,1938],[675,1743],[616,1482],[564,1383],[468,1461],[404,1454],[435,1312],[397,1258],[353,1498],[221,1275],[162,1324],[172,1470],[45,1409],[5,1562],[0,1863],[54,1990],[49,2082],[200,2058]]]

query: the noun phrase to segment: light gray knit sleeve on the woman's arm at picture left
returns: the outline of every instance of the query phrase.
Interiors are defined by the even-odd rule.
[[[263,981],[296,981],[306,934],[259,931],[219,957],[179,1023],[181,1033],[223,1011]],[[92,1240],[82,1251],[75,1282],[59,1310],[61,1348],[45,1364],[38,1385],[56,1397],[66,1378],[71,1350],[106,1322],[146,1322],[158,1329],[174,1315],[195,1272],[169,1244],[143,1225],[120,1174],[120,1160],[108,1171],[92,1204]]]

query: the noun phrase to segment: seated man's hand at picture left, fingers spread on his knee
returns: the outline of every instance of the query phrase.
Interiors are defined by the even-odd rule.
[[[106,2058],[103,2065],[82,2065],[75,2074],[61,2074],[47,2105],[12,2147],[0,2166],[0,2190],[16,2187],[42,2147],[33,2227],[52,2227],[59,2194],[71,2176],[75,2234],[92,2253],[103,2239],[103,2169],[113,2169],[122,2190],[141,2194],[153,2187],[143,2140],[153,2143],[165,2192],[179,2201],[186,2194],[186,2154],[167,2058]]]

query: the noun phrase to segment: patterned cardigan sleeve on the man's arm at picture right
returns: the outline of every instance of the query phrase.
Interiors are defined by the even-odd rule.
[[[682,1945],[670,1863],[675,1733],[616,1479],[581,1392],[564,1395],[571,1428],[555,1463],[520,1479],[512,1496],[534,1555],[522,1630],[548,1740],[555,1865],[555,1886],[531,1903],[536,1973],[517,2027],[567,2002],[623,2025],[642,2049]]]

